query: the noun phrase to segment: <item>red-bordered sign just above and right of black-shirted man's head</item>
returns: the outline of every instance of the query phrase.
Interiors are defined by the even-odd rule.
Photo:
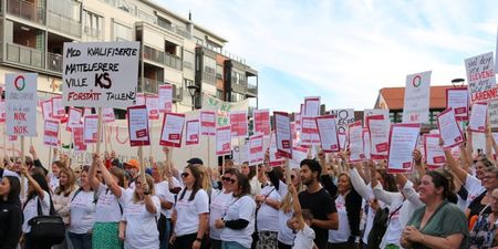
[[[323,115],[315,118],[320,144],[324,153],[339,152],[338,124],[334,115]]]

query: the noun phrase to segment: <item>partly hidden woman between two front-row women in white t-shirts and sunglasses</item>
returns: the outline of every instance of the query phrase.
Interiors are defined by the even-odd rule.
[[[235,168],[227,169],[221,177],[222,189],[212,189],[211,191],[211,212],[209,214],[209,238],[211,239],[211,249],[221,249],[221,229],[215,227],[217,219],[224,218],[228,207],[234,203],[234,193],[231,177],[237,170]]]

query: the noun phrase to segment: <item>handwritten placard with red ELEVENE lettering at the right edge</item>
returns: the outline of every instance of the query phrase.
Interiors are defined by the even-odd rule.
[[[497,98],[492,52],[465,60],[470,103]]]

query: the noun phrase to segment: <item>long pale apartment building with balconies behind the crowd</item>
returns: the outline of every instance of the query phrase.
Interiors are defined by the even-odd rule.
[[[201,93],[258,104],[258,72],[224,50],[226,39],[153,1],[1,0],[0,8],[0,79],[37,72],[41,98],[61,94],[64,42],[139,41],[138,92],[172,84],[176,112],[200,107]]]

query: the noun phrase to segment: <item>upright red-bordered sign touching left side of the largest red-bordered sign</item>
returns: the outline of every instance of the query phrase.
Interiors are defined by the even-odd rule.
[[[370,133],[372,159],[386,159],[390,149],[390,121],[384,115],[367,116],[366,128]]]

